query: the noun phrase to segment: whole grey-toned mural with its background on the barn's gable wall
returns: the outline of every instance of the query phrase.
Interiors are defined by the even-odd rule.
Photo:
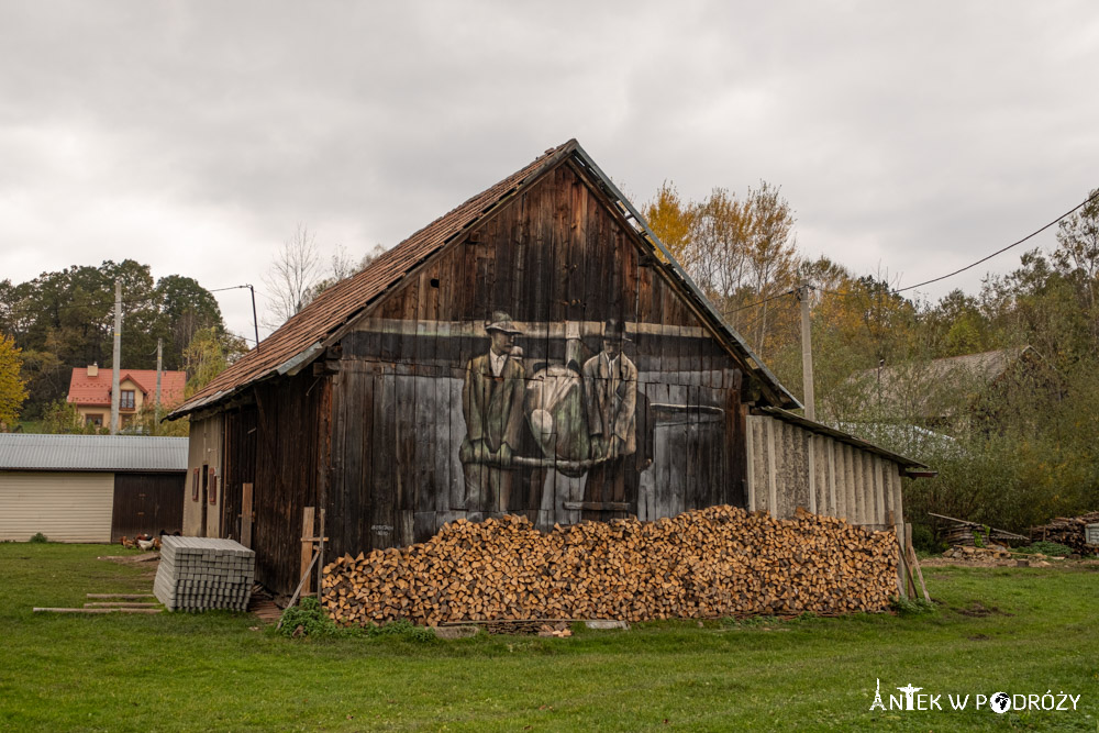
[[[647,333],[632,337],[637,330]],[[429,338],[454,355],[448,369],[422,360],[364,365],[375,402],[397,393],[415,400],[414,411],[385,411],[382,431],[397,437],[398,453],[401,437],[415,435],[409,462],[421,496],[434,499],[429,511],[439,517],[430,526],[500,513],[525,514],[541,527],[650,520],[707,506],[702,495],[713,503],[737,501],[741,487],[723,485],[739,480],[724,446],[726,423],[736,419],[728,414],[731,397],[733,409],[740,404],[740,371],[676,370],[669,379],[658,357],[639,353],[637,341],[697,352],[710,343],[701,329],[614,319],[517,322],[498,311],[487,321],[421,321],[414,336],[409,331],[399,322],[364,323],[345,349],[391,353],[382,344],[409,348],[410,338]],[[714,345],[715,362],[723,357],[717,352]],[[371,414],[382,417],[376,409]],[[370,530],[388,534],[395,524],[378,519]]]

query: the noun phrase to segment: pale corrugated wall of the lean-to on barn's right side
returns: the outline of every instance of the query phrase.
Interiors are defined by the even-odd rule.
[[[768,415],[747,420],[750,511],[789,519],[804,507],[853,524],[903,524],[895,462]]]

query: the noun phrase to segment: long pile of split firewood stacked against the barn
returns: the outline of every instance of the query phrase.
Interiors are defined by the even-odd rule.
[[[324,568],[322,602],[345,625],[881,611],[897,593],[897,554],[892,531],[808,513],[711,507],[547,533],[509,515],[341,557]]]

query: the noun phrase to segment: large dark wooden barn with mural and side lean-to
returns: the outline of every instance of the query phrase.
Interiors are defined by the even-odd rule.
[[[330,556],[501,513],[729,503],[900,525],[901,476],[924,467],[799,407],[570,141],[323,291],[169,418],[191,417],[185,533],[245,536],[257,579],[289,592],[306,507]]]

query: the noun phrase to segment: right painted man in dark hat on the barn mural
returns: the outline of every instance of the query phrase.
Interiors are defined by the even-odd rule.
[[[603,326],[602,351],[585,362],[584,390],[596,465],[585,481],[586,502],[635,502],[628,497],[634,476],[625,476],[626,464],[637,452],[637,367],[622,353],[629,342],[625,329],[615,319]],[[621,515],[624,515],[622,513]],[[601,517],[606,518],[607,514]]]

